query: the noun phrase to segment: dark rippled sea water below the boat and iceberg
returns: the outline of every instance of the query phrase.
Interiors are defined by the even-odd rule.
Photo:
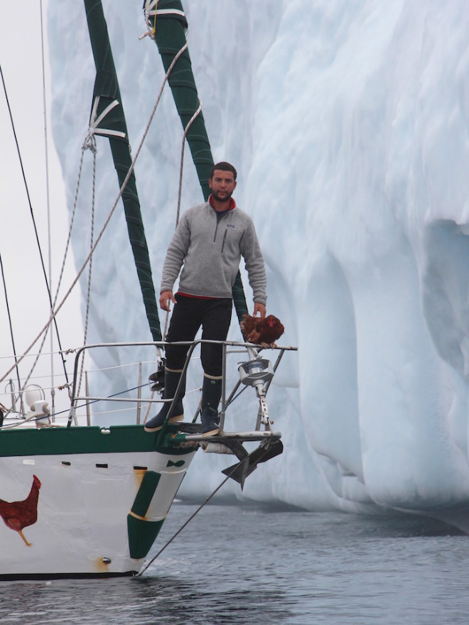
[[[175,504],[151,555],[197,509]],[[469,624],[469,537],[412,516],[207,505],[143,577],[0,582],[1,624]]]

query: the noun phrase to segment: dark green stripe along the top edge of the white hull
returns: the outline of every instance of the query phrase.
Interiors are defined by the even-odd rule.
[[[194,449],[156,445],[156,434],[143,425],[113,425],[104,430],[95,426],[0,430],[0,457],[65,455],[122,452],[159,452],[186,455]],[[170,430],[171,431],[171,430]],[[163,443],[167,440],[163,440]]]

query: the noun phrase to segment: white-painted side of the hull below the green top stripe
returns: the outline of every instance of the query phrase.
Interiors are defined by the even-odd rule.
[[[138,572],[144,558],[131,556],[128,515],[144,474],[154,472],[160,476],[146,513],[131,513],[146,528],[151,523],[161,525],[194,453],[188,450],[183,455],[153,451],[0,458],[0,497],[4,501],[26,499],[33,476],[41,481],[37,521],[23,529],[31,546],[18,531],[0,520],[0,575]]]

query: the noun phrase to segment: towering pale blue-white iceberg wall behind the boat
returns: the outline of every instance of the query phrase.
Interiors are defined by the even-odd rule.
[[[103,1],[134,148],[163,79],[156,46],[138,40],[140,4]],[[257,225],[269,312],[284,322],[282,342],[300,348],[270,391],[285,452],[249,477],[244,496],[308,509],[465,504],[469,5],[183,4],[214,158],[239,170],[236,200]],[[95,75],[84,18],[81,6],[50,0],[69,205]],[[180,142],[168,92],[136,168],[157,288]],[[189,156],[184,174],[188,207],[201,197]],[[112,165],[100,180],[102,222],[116,195]],[[87,219],[77,217],[78,261]],[[149,339],[123,217],[104,238],[90,339]],[[235,324],[230,336],[239,338]],[[210,491],[228,464],[198,456],[185,494]]]

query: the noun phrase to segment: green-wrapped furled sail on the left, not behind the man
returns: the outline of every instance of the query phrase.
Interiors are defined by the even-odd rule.
[[[109,138],[114,167],[117,170],[119,186],[131,165],[129,136],[124,117],[124,108],[117,81],[116,68],[112,58],[107,23],[104,18],[101,0],[84,0],[85,10],[90,32],[90,41],[95,58],[96,80],[93,89],[92,119],[90,126],[95,127],[95,134],[102,134]],[[109,111],[97,123],[97,119],[106,109]],[[132,172],[129,181],[122,193],[124,212],[129,231],[131,249],[134,254],[137,274],[144,298],[146,317],[149,321],[153,341],[161,341],[161,327],[156,305],[155,288],[151,276],[151,266],[148,246],[141,219],[139,197],[136,190],[135,175]]]

